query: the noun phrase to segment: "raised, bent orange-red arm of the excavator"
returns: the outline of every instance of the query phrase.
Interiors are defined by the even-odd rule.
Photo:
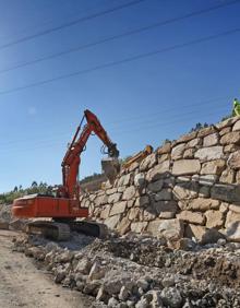
[[[84,119],[86,119],[86,125],[83,127],[83,130],[81,132],[81,125]],[[105,166],[108,171],[108,176],[110,175],[109,169],[118,167],[118,164],[116,163],[118,162],[117,158],[119,156],[117,144],[110,140],[97,117],[89,110],[85,110],[81,125],[77,127],[73,140],[61,164],[63,185],[58,191],[59,197],[77,198],[77,175],[79,166],[81,163],[80,155],[84,151],[87,140],[93,132],[103,141],[103,143],[108,149],[108,156],[110,159],[105,159],[105,163],[103,164],[103,166]],[[112,161],[115,161],[115,163],[112,163]],[[111,171],[113,173],[113,170]]]

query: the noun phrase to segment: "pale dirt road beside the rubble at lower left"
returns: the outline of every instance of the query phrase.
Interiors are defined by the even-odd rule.
[[[12,252],[13,232],[0,230],[1,307],[87,308],[80,293],[56,285],[22,253]]]

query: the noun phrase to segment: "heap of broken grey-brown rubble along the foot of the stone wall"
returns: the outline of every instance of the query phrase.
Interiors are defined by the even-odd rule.
[[[240,245],[200,245],[130,234],[68,242],[22,235],[14,250],[35,258],[56,283],[95,298],[92,307],[240,307]]]

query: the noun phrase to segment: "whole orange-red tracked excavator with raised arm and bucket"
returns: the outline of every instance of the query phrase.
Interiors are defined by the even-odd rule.
[[[82,129],[84,119],[86,125]],[[29,194],[13,202],[12,213],[22,218],[51,218],[35,220],[26,226],[27,233],[43,234],[56,240],[67,240],[71,230],[87,235],[104,237],[106,226],[87,221],[88,209],[81,206],[79,166],[80,155],[85,150],[86,142],[95,133],[107,147],[108,157],[101,161],[104,171],[110,181],[119,171],[119,151],[103,128],[97,117],[89,110],[84,111],[83,119],[76,129],[71,144],[62,161],[62,185],[58,187],[55,196]],[[82,218],[82,220],[77,220]],[[85,220],[83,220],[85,218]]]

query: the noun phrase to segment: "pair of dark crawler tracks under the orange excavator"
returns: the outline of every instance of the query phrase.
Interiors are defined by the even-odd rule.
[[[27,234],[41,235],[45,238],[57,241],[69,240],[71,232],[105,238],[108,234],[108,228],[104,224],[87,221],[35,221],[26,225]]]

